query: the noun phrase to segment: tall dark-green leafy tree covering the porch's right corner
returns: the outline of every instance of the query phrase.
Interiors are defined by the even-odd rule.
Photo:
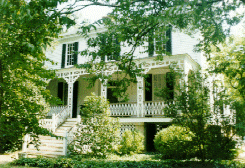
[[[173,118],[173,123],[194,133],[192,142],[197,150],[196,157],[202,161],[233,158],[234,118],[223,115],[223,107],[230,105],[230,101],[218,84],[208,82],[199,73],[190,73],[188,82],[183,81],[175,88],[175,99],[166,103],[164,113]]]

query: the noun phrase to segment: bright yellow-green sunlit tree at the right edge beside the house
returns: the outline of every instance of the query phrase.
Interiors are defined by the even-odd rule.
[[[230,37],[214,51],[210,72],[220,75],[237,115],[237,131],[244,136],[245,123],[245,38]]]

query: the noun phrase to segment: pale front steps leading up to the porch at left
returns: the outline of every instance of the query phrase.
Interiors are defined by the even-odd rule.
[[[29,144],[26,151],[22,151],[20,154],[22,157],[36,157],[42,155],[45,157],[57,157],[64,156],[67,152],[67,142],[64,138],[65,133],[70,131],[72,127],[77,124],[76,118],[67,119],[62,125],[60,125],[56,131],[55,135],[61,138],[51,137],[51,136],[39,136],[40,145],[38,150],[33,144]]]

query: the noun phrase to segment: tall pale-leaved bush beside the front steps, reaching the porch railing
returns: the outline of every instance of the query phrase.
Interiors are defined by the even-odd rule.
[[[72,154],[106,157],[118,143],[119,123],[109,117],[108,102],[99,96],[87,96],[82,112],[82,124],[77,127],[76,139],[70,145]],[[89,150],[84,149],[89,146]]]

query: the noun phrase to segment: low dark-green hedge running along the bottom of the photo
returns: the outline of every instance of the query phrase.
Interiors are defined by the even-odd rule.
[[[198,161],[164,160],[164,161],[106,161],[88,160],[77,161],[70,158],[22,158],[15,160],[12,165],[46,167],[46,168],[243,168],[245,164],[238,161],[220,161],[215,163],[201,163]]]

